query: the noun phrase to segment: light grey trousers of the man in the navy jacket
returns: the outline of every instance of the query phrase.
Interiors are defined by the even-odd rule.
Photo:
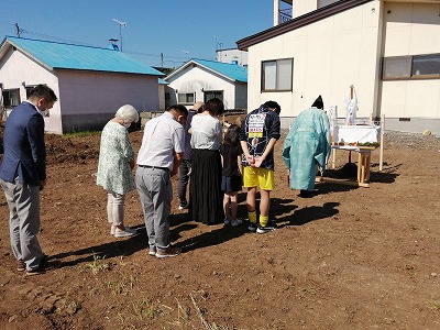
[[[44,253],[40,246],[40,186],[0,179],[9,206],[9,232],[12,253],[28,270],[38,267]]]

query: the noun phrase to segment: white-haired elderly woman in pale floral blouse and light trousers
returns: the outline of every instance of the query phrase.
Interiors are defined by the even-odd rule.
[[[131,237],[135,229],[124,226],[124,200],[127,193],[135,189],[132,169],[134,151],[128,129],[139,120],[138,110],[122,106],[102,130],[97,185],[107,190],[107,219],[110,233],[116,238]]]

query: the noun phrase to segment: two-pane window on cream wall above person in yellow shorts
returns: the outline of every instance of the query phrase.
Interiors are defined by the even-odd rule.
[[[262,63],[262,91],[290,91],[294,58],[265,61]]]

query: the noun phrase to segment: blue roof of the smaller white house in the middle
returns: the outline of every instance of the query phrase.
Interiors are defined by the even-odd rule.
[[[212,72],[216,72],[222,76],[228,77],[229,79],[240,82],[248,82],[248,68],[244,66],[232,63],[222,63],[217,61],[198,59],[198,58],[190,59],[189,62],[180,66],[178,69],[170,73],[167,77],[165,77],[165,79],[174,76],[178,72],[182,72],[191,64],[199,64],[200,66],[204,66]]]

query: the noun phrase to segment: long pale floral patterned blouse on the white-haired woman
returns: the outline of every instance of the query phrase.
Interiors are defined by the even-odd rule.
[[[136,186],[130,168],[133,160],[129,132],[121,124],[109,121],[101,133],[97,185],[120,195],[134,190]]]

